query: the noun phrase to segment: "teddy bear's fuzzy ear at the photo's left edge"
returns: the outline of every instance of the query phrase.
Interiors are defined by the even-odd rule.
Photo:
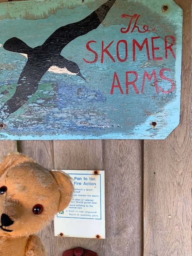
[[[10,153],[8,156],[3,157],[0,163],[0,176],[8,169],[12,168],[18,164],[23,164],[25,162],[32,162],[34,160],[28,156],[23,156],[19,152]]]

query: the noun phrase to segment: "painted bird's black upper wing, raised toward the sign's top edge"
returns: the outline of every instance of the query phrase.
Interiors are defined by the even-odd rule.
[[[93,29],[98,28],[115,1],[108,0],[83,20],[58,28],[47,38],[42,46],[47,51],[60,53],[76,37],[85,35]]]

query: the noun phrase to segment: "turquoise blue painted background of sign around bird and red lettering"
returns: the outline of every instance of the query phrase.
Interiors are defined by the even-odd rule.
[[[73,1],[70,1],[72,3]],[[80,2],[76,1],[75,2]],[[30,47],[36,47],[60,26],[78,21],[89,15],[105,1],[85,1],[76,7],[56,10],[45,19],[11,19],[0,20],[0,44],[10,37],[16,36]],[[0,17],[14,6],[23,4],[30,10],[33,1],[1,4]],[[49,4],[49,1],[36,1],[36,5]],[[87,5],[88,3],[88,5]],[[181,52],[182,52],[182,17],[180,7],[172,0],[166,1],[169,9],[162,12],[162,1],[124,1],[117,0],[108,12],[103,25],[80,36],[69,43],[62,51],[62,55],[78,64],[86,82],[80,77],[46,72],[41,80],[40,88],[29,102],[13,113],[5,122],[6,126],[0,130],[0,139],[7,140],[52,140],[52,139],[164,139],[179,124],[180,120],[180,90],[181,90]],[[66,4],[67,5],[67,4]],[[74,4],[75,5],[75,4]],[[78,5],[78,6],[77,6]],[[91,8],[92,7],[92,8]],[[4,13],[3,13],[4,12]],[[153,32],[122,34],[120,29],[128,26],[129,20],[122,19],[121,14],[141,15],[139,27],[148,24]],[[18,17],[19,14],[18,14]],[[162,61],[148,61],[146,51],[136,51],[136,61],[132,61],[132,39],[140,44],[148,37],[149,52],[151,53],[152,36],[160,36],[156,42],[156,56],[164,56],[164,36],[172,35],[176,38],[173,47],[176,59],[168,52],[168,59]],[[128,42],[128,60],[117,61],[116,43],[118,40]],[[93,60],[94,54],[85,45],[94,40],[90,46],[98,52],[98,61],[92,64],[84,62]],[[101,42],[107,46],[111,41],[109,52],[116,62],[112,62],[105,54],[104,63],[100,63]],[[122,50],[123,48],[121,48]],[[123,51],[122,51],[123,52]],[[124,54],[120,55],[124,58]],[[11,97],[22,68],[27,59],[19,53],[8,52],[0,47],[0,104]],[[170,68],[172,72],[164,75],[174,80],[176,87],[172,93],[156,94],[151,85],[154,79],[146,78],[144,93],[141,85],[144,71],[149,74],[156,70],[159,86],[164,90],[170,89],[168,81],[160,81],[158,76],[162,68]],[[139,75],[136,82],[139,94],[133,86],[129,86],[129,94],[125,94],[125,72],[136,71]],[[116,71],[124,94],[118,88],[110,95],[114,71]],[[130,76],[130,79],[134,76]],[[2,89],[1,89],[2,88]],[[6,90],[8,93],[4,94]],[[11,89],[10,89],[11,88]],[[47,89],[46,89],[47,88]],[[3,95],[1,97],[1,95]],[[156,128],[151,123],[156,122]]]

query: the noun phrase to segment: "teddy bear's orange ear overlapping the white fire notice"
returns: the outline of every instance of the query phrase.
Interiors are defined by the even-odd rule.
[[[60,189],[60,204],[58,212],[64,210],[71,201],[74,187],[68,174],[61,171],[51,171],[53,178],[56,180]]]

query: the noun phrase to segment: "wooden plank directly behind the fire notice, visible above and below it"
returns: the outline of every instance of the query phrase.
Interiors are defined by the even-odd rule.
[[[100,170],[102,169],[102,143],[100,140],[54,141],[55,169]],[[84,227],[86,228],[86,227]],[[104,240],[56,237],[58,256],[78,246],[97,251],[104,255]]]

